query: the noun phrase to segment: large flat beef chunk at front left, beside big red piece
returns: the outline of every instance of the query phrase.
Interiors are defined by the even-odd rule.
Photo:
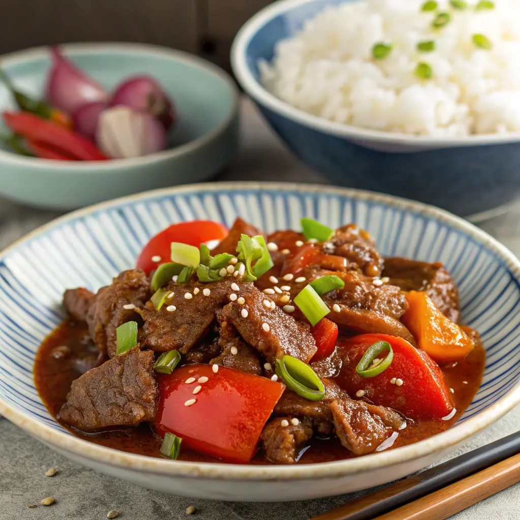
[[[159,390],[153,352],[134,347],[73,381],[59,418],[84,432],[153,422]]]

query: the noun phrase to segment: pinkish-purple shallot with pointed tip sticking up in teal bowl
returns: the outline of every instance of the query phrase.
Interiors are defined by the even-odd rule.
[[[86,103],[108,99],[107,91],[63,56],[58,47],[51,47],[50,54],[45,98],[51,105],[72,116]]]

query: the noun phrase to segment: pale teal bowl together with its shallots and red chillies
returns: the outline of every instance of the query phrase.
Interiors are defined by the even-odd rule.
[[[202,180],[237,147],[237,89],[194,56],[73,44],[0,60],[0,192],[72,209]]]

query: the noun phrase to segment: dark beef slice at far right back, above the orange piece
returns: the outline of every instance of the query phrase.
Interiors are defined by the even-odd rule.
[[[460,318],[459,291],[443,264],[417,262],[407,258],[386,258],[383,276],[403,291],[424,291],[451,321]]]

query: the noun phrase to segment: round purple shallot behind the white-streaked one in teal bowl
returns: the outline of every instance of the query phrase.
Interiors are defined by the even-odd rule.
[[[172,100],[151,76],[132,76],[116,86],[110,106],[118,105],[148,112],[166,129],[175,121]]]

